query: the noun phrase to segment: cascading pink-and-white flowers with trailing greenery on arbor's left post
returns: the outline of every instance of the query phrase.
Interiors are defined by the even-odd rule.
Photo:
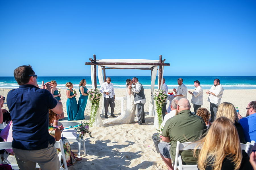
[[[96,89],[90,89],[88,90],[88,98],[89,101],[92,103],[91,106],[91,115],[90,115],[90,126],[92,126],[92,124],[95,122],[95,117],[96,117],[96,113],[97,110],[100,106],[100,98],[102,97],[102,94],[100,92],[100,90],[98,90],[98,88]]]

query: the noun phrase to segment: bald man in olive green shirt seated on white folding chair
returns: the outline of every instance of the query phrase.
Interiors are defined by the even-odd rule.
[[[177,103],[177,115],[168,119],[162,131],[162,141],[158,144],[160,156],[168,169],[173,169],[172,160],[175,160],[177,141],[189,142],[198,140],[206,130],[204,120],[191,113],[189,101],[182,98]],[[169,144],[171,143],[171,144]],[[179,152],[184,164],[197,164],[191,150]]]

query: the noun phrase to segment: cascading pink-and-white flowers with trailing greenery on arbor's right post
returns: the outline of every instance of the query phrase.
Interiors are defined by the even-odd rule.
[[[154,94],[154,100],[156,102],[156,112],[157,112],[159,125],[162,123],[162,107],[164,106],[164,103],[166,103],[167,97],[168,95],[165,94],[165,91],[160,89],[156,90]]]

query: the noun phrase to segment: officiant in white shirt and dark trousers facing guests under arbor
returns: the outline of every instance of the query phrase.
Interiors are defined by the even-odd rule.
[[[104,97],[104,107],[105,107],[105,118],[108,118],[108,106],[111,108],[111,116],[116,117],[114,115],[115,108],[115,92],[114,85],[111,82],[111,78],[107,77],[106,82],[102,83],[100,87],[100,92],[103,93]]]

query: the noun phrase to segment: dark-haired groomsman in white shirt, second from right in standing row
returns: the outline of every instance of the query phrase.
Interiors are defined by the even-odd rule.
[[[198,80],[194,81],[195,90],[194,92],[188,91],[189,94],[192,95],[191,102],[193,103],[194,112],[197,114],[197,109],[203,105],[203,89],[200,86],[200,82]]]

